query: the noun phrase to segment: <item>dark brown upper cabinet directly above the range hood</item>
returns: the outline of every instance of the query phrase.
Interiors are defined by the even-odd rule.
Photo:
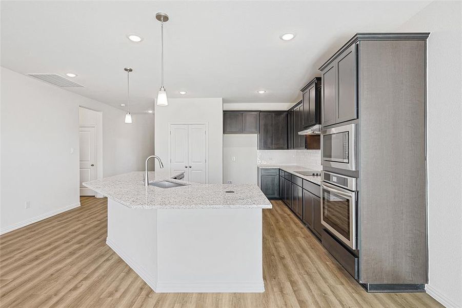
[[[302,88],[302,127],[320,124],[321,122],[321,78],[316,77]]]

